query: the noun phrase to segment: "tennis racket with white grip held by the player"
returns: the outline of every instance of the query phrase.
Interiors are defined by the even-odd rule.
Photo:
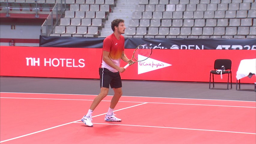
[[[152,54],[152,47],[149,46],[148,44],[141,44],[137,46],[133,52],[131,61],[127,65],[125,65],[124,68],[127,68],[129,65],[134,64],[135,62],[145,61],[150,57],[151,54]],[[135,61],[133,61],[133,59]]]

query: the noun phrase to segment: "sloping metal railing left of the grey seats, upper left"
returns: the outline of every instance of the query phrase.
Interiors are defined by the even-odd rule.
[[[66,10],[66,0],[59,0],[41,26],[41,35],[49,36]]]

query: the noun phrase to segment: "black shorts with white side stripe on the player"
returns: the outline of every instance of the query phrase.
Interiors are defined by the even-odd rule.
[[[99,68],[100,86],[104,88],[121,88],[122,81],[119,72],[113,73],[107,68]]]

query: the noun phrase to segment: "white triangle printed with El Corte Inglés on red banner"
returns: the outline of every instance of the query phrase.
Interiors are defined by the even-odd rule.
[[[138,55],[138,60],[143,60],[146,57],[143,55]],[[158,61],[152,58],[148,58],[145,61],[138,62],[138,74],[146,73],[149,71],[157,70],[164,67],[169,67],[171,64],[167,64],[162,61]]]

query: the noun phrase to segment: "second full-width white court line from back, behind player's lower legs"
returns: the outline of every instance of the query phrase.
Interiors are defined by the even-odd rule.
[[[0,97],[9,99],[35,99],[35,100],[70,100],[70,101],[93,101],[93,100],[83,100],[83,99],[60,99],[60,98],[11,98],[11,97]],[[107,101],[107,100],[102,100]],[[110,102],[110,101],[108,101]],[[125,103],[149,103],[149,104],[178,104],[178,105],[192,105],[192,106],[214,106],[214,107],[241,107],[241,108],[256,108],[256,107],[244,107],[244,106],[226,106],[226,105],[209,105],[209,104],[180,104],[180,103],[157,103],[157,102],[134,102],[134,101],[119,101]]]

